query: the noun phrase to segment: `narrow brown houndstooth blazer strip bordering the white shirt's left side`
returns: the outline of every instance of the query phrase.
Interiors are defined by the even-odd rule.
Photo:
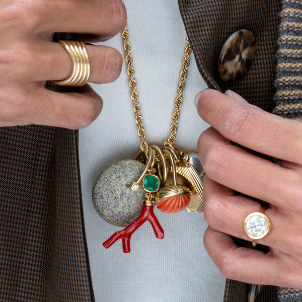
[[[54,36],[56,41],[78,38],[74,34]],[[48,85],[49,89],[56,89],[53,84]],[[54,130],[53,212],[46,276],[50,301],[94,301],[82,206],[78,135],[78,130]]]

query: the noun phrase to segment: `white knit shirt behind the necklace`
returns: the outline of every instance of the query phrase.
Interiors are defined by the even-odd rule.
[[[170,133],[185,29],[177,1],[125,0],[133,66],[148,143],[162,145]],[[102,43],[122,52],[120,35]],[[165,238],[155,237],[149,223],[131,238],[131,252],[121,241],[106,250],[102,243],[120,228],[104,221],[92,203],[98,175],[112,163],[133,159],[139,150],[125,64],[112,84],[92,85],[104,100],[98,119],[80,131],[83,206],[92,282],[97,302],[183,302],[223,300],[225,278],[212,263],[203,243],[203,213],[155,213]],[[198,116],[195,95],[206,88],[191,54],[176,146],[196,152],[208,125]]]

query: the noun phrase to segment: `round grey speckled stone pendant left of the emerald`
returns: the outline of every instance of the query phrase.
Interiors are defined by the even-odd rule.
[[[108,167],[96,180],[92,199],[95,209],[107,222],[127,226],[141,210],[145,192],[139,188],[133,192],[130,183],[141,174],[144,164],[134,160],[122,160]]]

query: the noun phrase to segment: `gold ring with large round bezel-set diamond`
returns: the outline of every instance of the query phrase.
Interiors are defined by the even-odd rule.
[[[264,208],[260,212],[249,214],[243,223],[246,235],[253,240],[253,246],[257,245],[257,240],[264,238],[271,231],[271,222],[264,214]]]

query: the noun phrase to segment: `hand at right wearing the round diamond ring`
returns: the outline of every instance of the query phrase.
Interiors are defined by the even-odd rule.
[[[221,273],[247,283],[302,289],[302,123],[267,113],[232,91],[206,89],[196,97],[201,118],[212,127],[198,141],[205,170],[204,217],[209,224],[204,246]],[[281,159],[276,165],[234,141]],[[270,204],[272,230],[258,243],[263,252],[238,247],[231,236],[251,240],[244,219],[261,205],[234,191]]]

